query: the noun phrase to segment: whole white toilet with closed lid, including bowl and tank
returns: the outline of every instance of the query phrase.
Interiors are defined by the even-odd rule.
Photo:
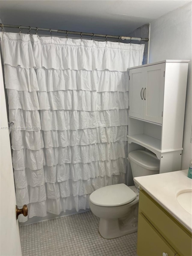
[[[156,155],[145,150],[129,153],[133,177],[159,173],[160,161]],[[91,193],[89,206],[91,212],[100,218],[99,233],[107,239],[123,236],[137,231],[138,185],[110,185]]]

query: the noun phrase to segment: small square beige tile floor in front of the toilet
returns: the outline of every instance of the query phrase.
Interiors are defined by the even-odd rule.
[[[137,232],[115,239],[98,233],[91,211],[21,226],[22,255],[136,256]]]

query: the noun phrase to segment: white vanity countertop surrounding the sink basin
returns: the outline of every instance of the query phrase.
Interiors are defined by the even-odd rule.
[[[192,188],[192,179],[187,177],[187,172],[188,170],[181,170],[140,176],[134,178],[134,181],[192,232],[192,215],[182,208],[176,199],[180,191],[189,191]]]

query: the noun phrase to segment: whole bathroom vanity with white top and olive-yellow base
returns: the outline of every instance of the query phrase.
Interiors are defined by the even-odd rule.
[[[191,256],[192,181],[187,170],[134,181],[140,185],[138,256]]]

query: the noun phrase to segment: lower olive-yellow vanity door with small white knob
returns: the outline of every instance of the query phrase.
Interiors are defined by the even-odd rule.
[[[161,234],[150,224],[142,213],[139,213],[137,254],[138,256],[175,256],[176,251],[167,243]]]

